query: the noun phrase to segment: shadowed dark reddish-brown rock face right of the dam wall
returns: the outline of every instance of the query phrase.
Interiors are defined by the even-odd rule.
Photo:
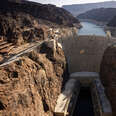
[[[101,63],[100,76],[112,105],[113,116],[116,116],[116,45],[106,49]]]

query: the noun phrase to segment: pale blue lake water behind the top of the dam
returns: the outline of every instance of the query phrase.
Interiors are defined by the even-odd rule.
[[[82,28],[79,30],[79,35],[98,35],[98,36],[106,36],[104,29],[100,26],[97,26],[94,23],[89,22],[81,22]]]

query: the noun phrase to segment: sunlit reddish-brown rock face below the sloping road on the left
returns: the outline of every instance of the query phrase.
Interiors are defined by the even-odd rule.
[[[0,67],[1,116],[53,116],[66,62],[60,48],[55,56],[47,49]]]

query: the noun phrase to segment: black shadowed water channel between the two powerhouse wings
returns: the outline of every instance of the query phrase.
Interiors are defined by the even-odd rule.
[[[94,116],[91,91],[89,87],[82,87],[73,116]]]

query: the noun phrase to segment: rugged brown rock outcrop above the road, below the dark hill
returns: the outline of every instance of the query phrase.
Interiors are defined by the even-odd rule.
[[[45,34],[48,27],[40,25],[33,16],[26,13],[0,14],[0,27],[0,36],[17,45],[47,37]]]

